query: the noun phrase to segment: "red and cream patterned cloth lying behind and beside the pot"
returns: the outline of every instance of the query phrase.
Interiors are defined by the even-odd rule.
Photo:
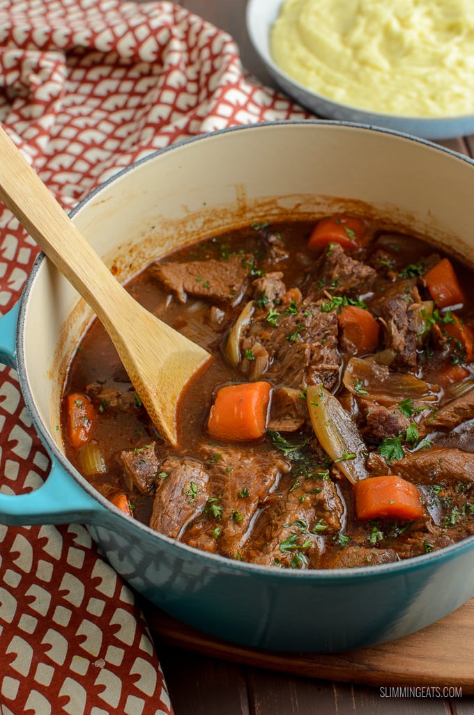
[[[231,36],[172,2],[0,0],[0,124],[67,210],[172,142],[302,117],[246,77]],[[2,314],[37,252],[0,204]],[[48,470],[0,366],[0,488],[24,493]],[[0,711],[173,711],[140,608],[83,526],[0,523]]]

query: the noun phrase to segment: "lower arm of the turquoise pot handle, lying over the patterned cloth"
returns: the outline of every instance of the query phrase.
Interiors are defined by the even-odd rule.
[[[106,511],[54,458],[38,489],[18,495],[0,493],[0,523],[9,526],[96,523],[97,515],[103,518]]]

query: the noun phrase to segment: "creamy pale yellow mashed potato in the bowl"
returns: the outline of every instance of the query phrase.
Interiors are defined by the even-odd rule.
[[[285,0],[271,54],[342,104],[412,117],[474,112],[471,0]]]

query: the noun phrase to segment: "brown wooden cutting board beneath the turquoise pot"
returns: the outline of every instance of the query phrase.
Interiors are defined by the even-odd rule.
[[[281,653],[221,641],[145,606],[160,642],[214,658],[322,680],[371,686],[457,687],[474,694],[474,598],[397,641],[330,654]]]

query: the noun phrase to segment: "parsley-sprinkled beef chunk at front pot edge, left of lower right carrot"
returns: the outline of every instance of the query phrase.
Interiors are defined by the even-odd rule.
[[[247,561],[281,568],[317,568],[324,537],[342,528],[344,502],[331,480],[299,478],[258,516]]]

